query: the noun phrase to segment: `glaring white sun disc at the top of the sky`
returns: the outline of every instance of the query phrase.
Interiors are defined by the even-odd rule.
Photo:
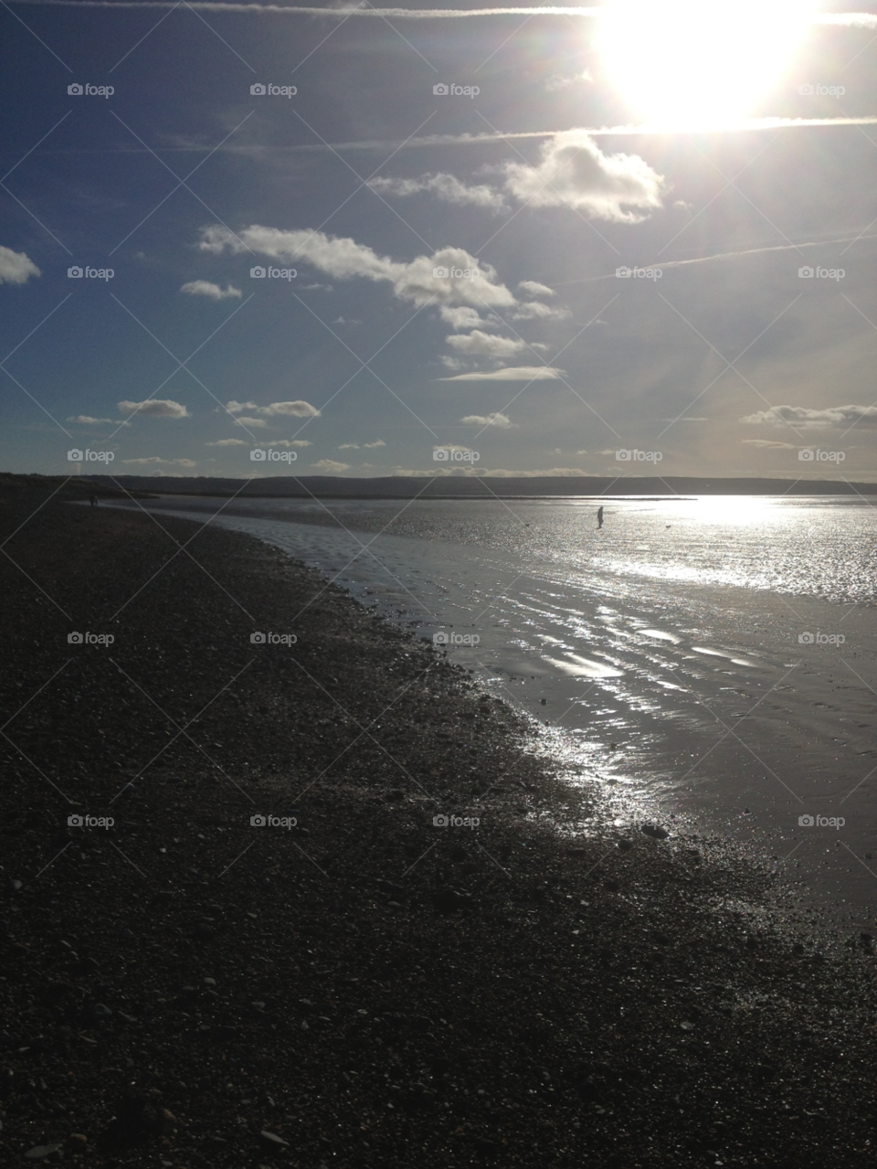
[[[607,0],[598,47],[650,124],[708,127],[754,111],[789,64],[815,0]]]

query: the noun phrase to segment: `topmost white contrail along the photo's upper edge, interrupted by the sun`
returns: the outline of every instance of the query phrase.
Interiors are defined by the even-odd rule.
[[[173,0],[11,0],[12,4],[34,7],[54,5],[61,8],[176,8]],[[286,13],[300,16],[328,16],[334,20],[348,16],[392,16],[394,20],[457,20],[466,16],[600,16],[603,7],[562,7],[545,5],[537,8],[302,8],[277,4],[222,4],[218,0],[185,0],[187,8],[201,12],[262,12]],[[729,8],[731,6],[729,5]],[[822,13],[812,18],[814,25],[840,25],[847,28],[877,28],[877,14],[869,12]]]

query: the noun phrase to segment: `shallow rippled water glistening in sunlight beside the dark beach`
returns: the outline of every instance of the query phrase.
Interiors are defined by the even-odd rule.
[[[541,749],[571,783],[597,786],[619,823],[731,835],[870,921],[870,504],[608,500],[601,531],[597,505],[580,499],[147,506],[222,507],[214,523],[284,548],[423,636],[444,635],[454,660],[548,724]],[[288,631],[306,636],[307,611]]]

